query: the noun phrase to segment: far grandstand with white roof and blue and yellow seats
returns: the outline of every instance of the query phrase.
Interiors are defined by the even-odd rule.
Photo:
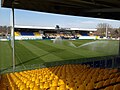
[[[96,39],[97,29],[59,28],[38,26],[15,26],[15,39]]]

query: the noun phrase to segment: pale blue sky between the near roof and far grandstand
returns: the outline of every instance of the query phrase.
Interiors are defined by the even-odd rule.
[[[1,5],[1,0],[0,0]],[[1,8],[0,6],[0,25],[10,25],[11,9]],[[78,16],[58,15],[42,12],[33,12],[26,10],[15,10],[16,25],[32,26],[53,26],[60,27],[78,27],[78,28],[96,28],[98,23],[108,23],[114,28],[120,27],[120,21],[86,18]]]

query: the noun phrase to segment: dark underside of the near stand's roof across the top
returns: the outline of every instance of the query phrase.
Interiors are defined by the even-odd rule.
[[[120,20],[120,0],[2,0],[2,7]]]

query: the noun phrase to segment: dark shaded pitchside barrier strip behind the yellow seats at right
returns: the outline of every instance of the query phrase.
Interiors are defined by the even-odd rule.
[[[120,68],[120,56],[103,56],[81,59],[69,59],[57,62],[47,62],[44,65],[47,67],[65,65],[65,64],[85,64],[94,68]]]

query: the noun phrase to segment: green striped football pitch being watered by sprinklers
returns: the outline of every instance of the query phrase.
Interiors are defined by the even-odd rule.
[[[112,40],[63,40],[55,44],[52,40],[15,41],[16,66],[79,60],[118,54],[118,41]],[[0,41],[0,68],[12,66],[10,41]]]

